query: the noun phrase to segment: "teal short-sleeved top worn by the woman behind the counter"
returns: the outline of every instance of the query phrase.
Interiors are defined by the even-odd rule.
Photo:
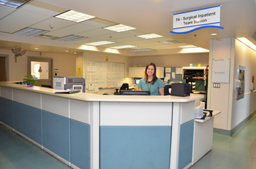
[[[162,87],[165,87],[165,85],[162,83],[162,80],[159,78],[157,78],[154,84],[150,85],[150,83],[147,84],[145,82],[145,77],[143,77],[143,79],[140,79],[140,82],[138,84],[138,88],[142,90],[150,90],[150,95],[159,95],[159,89],[161,89]]]

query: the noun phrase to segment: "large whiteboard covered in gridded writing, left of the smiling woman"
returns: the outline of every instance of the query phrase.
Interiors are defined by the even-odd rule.
[[[121,87],[124,83],[124,63],[86,61],[86,88]]]

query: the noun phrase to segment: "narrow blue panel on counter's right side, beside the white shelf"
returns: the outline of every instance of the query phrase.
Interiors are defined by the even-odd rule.
[[[185,168],[190,162],[192,162],[193,133],[194,119],[181,125],[178,150],[178,169]]]

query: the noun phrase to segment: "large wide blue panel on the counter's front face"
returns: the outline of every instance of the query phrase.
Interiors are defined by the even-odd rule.
[[[101,126],[100,169],[169,169],[170,126]]]

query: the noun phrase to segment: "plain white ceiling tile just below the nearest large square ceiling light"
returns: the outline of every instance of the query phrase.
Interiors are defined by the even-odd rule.
[[[93,26],[76,23],[75,25],[69,25],[65,28],[60,28],[56,31],[50,31],[50,32],[46,33],[46,35],[63,37],[63,36],[68,36],[68,35],[72,35],[72,34],[78,35],[80,32],[90,31],[93,29],[95,29],[95,27],[93,27]],[[79,36],[82,36],[82,35],[79,35]],[[86,37],[88,37],[88,36],[86,36]]]

